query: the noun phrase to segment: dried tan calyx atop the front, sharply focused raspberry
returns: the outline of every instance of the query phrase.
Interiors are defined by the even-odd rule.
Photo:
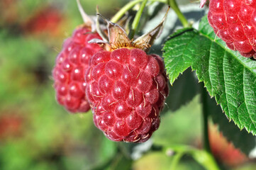
[[[89,43],[97,43],[102,45],[105,50],[108,51],[126,47],[128,49],[139,48],[145,52],[148,52],[154,40],[162,33],[163,24],[165,22],[165,18],[167,17],[168,11],[169,8],[165,13],[164,18],[162,18],[162,21],[155,28],[150,30],[148,33],[145,33],[144,35],[141,35],[135,40],[130,40],[126,34],[126,31],[123,30],[123,28],[121,28],[121,26],[119,26],[117,23],[112,23],[111,21],[108,21],[106,18],[104,18],[104,16],[101,16],[100,13],[97,13],[97,15],[101,16],[101,18],[103,18],[104,21],[106,21],[108,24],[108,40],[93,39],[90,40]],[[99,22],[99,20],[96,22]],[[102,33],[101,30],[98,30],[98,32]]]

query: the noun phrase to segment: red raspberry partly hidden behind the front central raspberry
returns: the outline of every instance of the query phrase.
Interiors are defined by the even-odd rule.
[[[87,86],[84,74],[91,56],[101,50],[99,45],[88,43],[94,38],[100,36],[91,33],[91,28],[87,26],[74,30],[72,37],[63,43],[52,71],[57,101],[72,113],[87,112],[90,109],[84,93]]]

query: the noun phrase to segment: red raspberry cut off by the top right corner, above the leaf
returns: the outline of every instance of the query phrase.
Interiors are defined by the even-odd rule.
[[[256,0],[211,0],[208,22],[231,50],[256,58]]]

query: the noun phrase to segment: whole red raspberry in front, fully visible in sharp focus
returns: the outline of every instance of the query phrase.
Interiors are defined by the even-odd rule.
[[[162,59],[138,48],[97,52],[86,74],[94,124],[113,141],[145,142],[168,95]]]

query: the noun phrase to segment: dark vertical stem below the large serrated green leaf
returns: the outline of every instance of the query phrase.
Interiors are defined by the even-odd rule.
[[[204,141],[204,150],[211,154],[211,147],[208,137],[208,111],[207,111],[207,92],[204,89],[204,84],[201,83],[201,102],[202,102],[202,112],[203,112],[203,141]]]

